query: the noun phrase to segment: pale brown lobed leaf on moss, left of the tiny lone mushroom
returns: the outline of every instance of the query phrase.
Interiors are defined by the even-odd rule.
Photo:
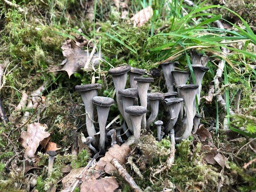
[[[32,123],[28,124],[27,131],[20,133],[20,142],[25,148],[25,158],[33,158],[40,142],[50,136],[50,133],[45,131],[47,128],[46,124]]]

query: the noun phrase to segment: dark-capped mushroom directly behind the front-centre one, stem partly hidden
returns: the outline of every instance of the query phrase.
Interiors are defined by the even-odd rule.
[[[134,105],[135,98],[138,98],[138,89],[122,89],[118,91],[118,94],[122,96],[123,108],[126,109],[126,107]],[[126,112],[124,112],[124,120],[126,121],[129,130],[133,132],[132,121],[130,120],[129,114]]]

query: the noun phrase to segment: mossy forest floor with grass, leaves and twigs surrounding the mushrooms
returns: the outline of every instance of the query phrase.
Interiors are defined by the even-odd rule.
[[[0,191],[256,191],[256,2],[190,3],[2,0]],[[116,100],[108,70],[129,64],[154,78],[150,92],[165,93],[160,64],[184,69],[192,51],[209,57],[198,130],[175,149],[171,135],[156,140],[154,124],[136,143],[121,131],[124,144],[107,137],[106,154],[95,154],[74,87],[99,83],[98,96]],[[162,104],[156,120],[168,122]],[[112,105],[108,127],[123,122]],[[57,152],[50,175],[48,151]]]

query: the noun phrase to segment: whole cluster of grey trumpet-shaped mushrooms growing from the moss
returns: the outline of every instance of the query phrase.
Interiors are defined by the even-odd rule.
[[[84,102],[86,129],[93,151],[95,152],[96,148],[104,153],[105,144],[110,144],[108,136],[111,139],[111,146],[117,143],[116,138],[118,142],[123,142],[130,135],[134,135],[135,140],[138,141],[141,130],[146,132],[152,127],[157,130],[158,141],[173,130],[176,142],[187,139],[192,132],[196,132],[200,124],[196,103],[200,102],[202,79],[208,71],[206,67],[208,57],[196,51],[190,52],[190,57],[194,81],[188,66],[181,71],[175,70],[179,67],[178,62],[160,64],[168,91],[165,93],[150,92],[150,83],[154,82],[154,78],[148,77],[150,74],[146,74],[146,70],[132,68],[127,64],[111,68],[108,74],[112,76],[116,103],[124,119],[121,126],[116,126],[114,122],[110,128],[106,128],[110,106],[115,101],[109,97],[98,96],[97,90],[102,89],[101,84],[76,86],[75,90],[80,92]],[[144,77],[145,74],[147,77]],[[126,88],[127,78],[130,88]],[[95,129],[94,106],[97,108],[99,134]],[[163,110],[160,110],[161,108]],[[158,115],[159,111],[167,115],[163,118]]]

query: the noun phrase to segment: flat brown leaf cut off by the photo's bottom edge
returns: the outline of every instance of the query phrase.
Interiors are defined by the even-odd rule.
[[[118,183],[114,177],[96,179],[92,176],[86,182],[82,182],[80,192],[114,192],[117,188]]]

